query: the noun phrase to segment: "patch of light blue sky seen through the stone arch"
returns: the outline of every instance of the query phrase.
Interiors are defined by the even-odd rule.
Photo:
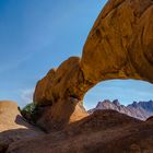
[[[146,102],[153,99],[153,84],[138,80],[111,80],[101,82],[85,95],[85,108],[93,108],[97,102],[104,99],[119,99],[123,105],[133,103],[133,101]]]

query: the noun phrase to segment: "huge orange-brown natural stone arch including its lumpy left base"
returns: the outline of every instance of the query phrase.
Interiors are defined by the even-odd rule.
[[[71,57],[37,83],[37,123],[62,128],[85,117],[85,93],[101,81],[153,82],[153,0],[109,0],[97,17],[82,57]],[[52,125],[56,127],[52,127]],[[47,128],[46,128],[47,127]]]

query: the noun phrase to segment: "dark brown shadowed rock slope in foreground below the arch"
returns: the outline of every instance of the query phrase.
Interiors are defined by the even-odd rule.
[[[153,120],[96,110],[64,130],[12,143],[7,153],[152,153]]]

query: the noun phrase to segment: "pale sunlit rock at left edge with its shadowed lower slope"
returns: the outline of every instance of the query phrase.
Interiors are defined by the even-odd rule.
[[[24,120],[15,102],[0,101],[0,153],[12,142],[42,134],[43,131]]]

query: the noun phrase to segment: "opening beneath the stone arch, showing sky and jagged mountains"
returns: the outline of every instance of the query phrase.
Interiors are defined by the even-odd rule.
[[[153,85],[140,80],[109,80],[93,86],[84,96],[89,114],[97,109],[115,109],[145,120],[153,115]]]

